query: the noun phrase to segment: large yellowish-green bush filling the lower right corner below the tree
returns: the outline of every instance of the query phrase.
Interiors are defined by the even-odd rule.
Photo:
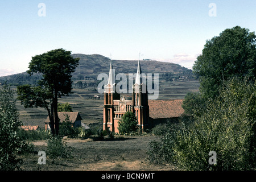
[[[160,141],[151,142],[148,160],[171,162],[187,170],[255,167],[255,82],[232,78],[218,92],[220,96],[208,100],[195,121],[181,122]],[[209,151],[216,151],[216,165],[208,163]]]

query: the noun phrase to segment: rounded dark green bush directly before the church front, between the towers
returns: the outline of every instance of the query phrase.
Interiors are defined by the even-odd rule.
[[[133,112],[126,112],[121,121],[118,121],[118,131],[121,134],[129,134],[138,129],[138,121]]]

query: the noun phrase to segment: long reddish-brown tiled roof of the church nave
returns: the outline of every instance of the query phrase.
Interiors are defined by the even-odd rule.
[[[150,117],[156,118],[175,118],[184,113],[181,107],[183,100],[148,100]]]

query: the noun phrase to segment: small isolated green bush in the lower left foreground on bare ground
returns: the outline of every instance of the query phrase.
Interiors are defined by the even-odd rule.
[[[52,159],[52,163],[57,158],[72,158],[71,150],[67,147],[67,144],[62,141],[60,137],[52,136],[47,141],[48,147],[46,154]]]

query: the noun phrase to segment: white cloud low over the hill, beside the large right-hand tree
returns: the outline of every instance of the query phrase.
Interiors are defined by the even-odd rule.
[[[162,60],[164,62],[169,62],[169,63],[176,63],[181,65],[182,67],[192,69],[193,64],[196,61],[197,56],[199,56],[200,53],[197,53],[196,55],[188,55],[186,53],[177,53],[174,55],[173,59],[167,59],[167,60]]]

